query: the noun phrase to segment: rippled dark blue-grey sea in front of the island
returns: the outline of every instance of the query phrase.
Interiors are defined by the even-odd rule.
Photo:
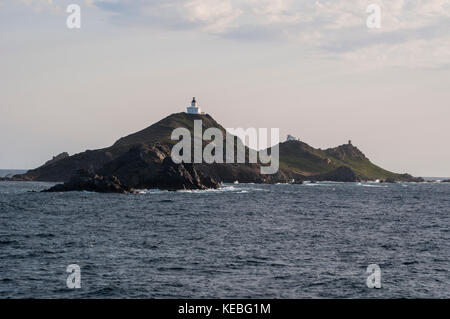
[[[450,297],[450,183],[52,185],[0,182],[0,298]]]

